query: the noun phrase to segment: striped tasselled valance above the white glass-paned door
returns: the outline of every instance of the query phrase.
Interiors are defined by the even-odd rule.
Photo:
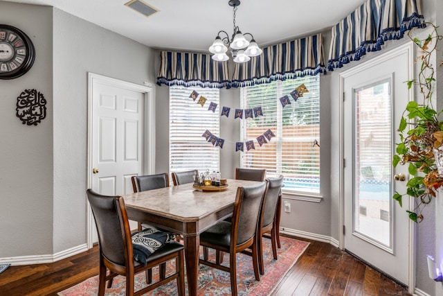
[[[328,70],[379,51],[386,40],[397,40],[424,21],[420,0],[368,0],[332,27]]]

